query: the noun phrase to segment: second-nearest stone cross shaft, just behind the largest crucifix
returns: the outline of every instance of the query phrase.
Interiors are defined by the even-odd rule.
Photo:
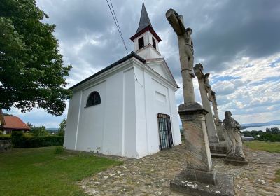
[[[195,76],[197,76],[198,84],[200,86],[200,95],[202,97],[202,104],[204,109],[208,111],[207,115],[205,116],[206,126],[207,126],[207,134],[209,138],[209,143],[218,143],[218,135],[216,131],[216,126],[214,123],[213,113],[211,109],[211,104],[207,92],[207,88],[211,88],[208,83],[208,78],[202,72],[203,66],[202,64],[195,65]],[[209,89],[208,89],[209,90]],[[209,90],[211,91],[211,90]],[[210,94],[210,93],[209,93]]]

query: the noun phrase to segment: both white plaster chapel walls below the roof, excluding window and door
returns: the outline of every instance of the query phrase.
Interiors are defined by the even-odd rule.
[[[175,90],[156,80],[138,65],[127,66],[73,92],[64,146],[132,158],[151,155],[160,145],[157,113],[171,116],[174,145],[181,144]],[[93,91],[101,104],[85,108]]]

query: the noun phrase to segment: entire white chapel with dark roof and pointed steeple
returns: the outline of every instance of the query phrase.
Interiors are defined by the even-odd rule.
[[[181,144],[178,85],[143,3],[134,52],[73,85],[64,147],[142,158]]]

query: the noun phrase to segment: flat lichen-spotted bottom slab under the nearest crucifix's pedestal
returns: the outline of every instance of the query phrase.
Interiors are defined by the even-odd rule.
[[[181,172],[174,181],[170,182],[170,190],[183,193],[186,195],[197,196],[211,196],[211,195],[223,195],[233,196],[235,195],[234,179],[228,174],[216,174],[216,185],[200,183],[197,181],[186,180],[184,172]]]

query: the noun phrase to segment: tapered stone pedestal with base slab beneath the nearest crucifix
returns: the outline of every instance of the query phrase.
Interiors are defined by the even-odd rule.
[[[198,103],[181,104],[179,114],[186,139],[187,167],[170,183],[170,189],[188,195],[234,195],[233,178],[216,174],[212,167],[205,115]]]

